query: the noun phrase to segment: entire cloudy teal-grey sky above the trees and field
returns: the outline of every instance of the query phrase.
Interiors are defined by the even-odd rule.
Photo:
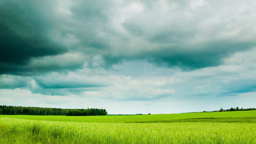
[[[256,1],[0,2],[0,105],[256,107]]]

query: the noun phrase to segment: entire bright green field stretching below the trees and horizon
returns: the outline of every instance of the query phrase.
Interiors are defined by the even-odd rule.
[[[138,116],[0,115],[0,143],[256,143],[256,111]]]

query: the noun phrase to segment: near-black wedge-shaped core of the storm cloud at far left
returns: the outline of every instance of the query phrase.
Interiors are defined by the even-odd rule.
[[[22,37],[11,30],[4,22],[0,25],[0,60],[3,63],[22,64],[32,57],[56,55],[65,52],[65,49],[51,43],[40,35]]]

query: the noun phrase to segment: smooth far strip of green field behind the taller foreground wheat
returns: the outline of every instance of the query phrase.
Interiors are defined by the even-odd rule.
[[[158,114],[158,115],[129,115],[129,116],[29,116],[29,115],[0,115],[28,120],[68,121],[68,122],[100,122],[100,123],[142,123],[142,122],[197,122],[226,120],[255,122],[256,110],[207,112],[207,113],[182,113],[182,114]]]

